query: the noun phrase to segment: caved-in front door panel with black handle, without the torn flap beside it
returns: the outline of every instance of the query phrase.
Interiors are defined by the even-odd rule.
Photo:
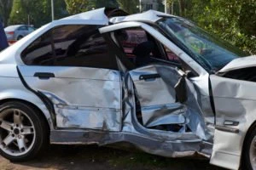
[[[175,90],[175,87],[182,86],[182,100],[187,100],[184,77],[165,65],[148,65],[132,70],[129,74],[135,86],[137,112],[142,114],[143,126],[177,125],[180,126],[177,132],[185,132],[188,123],[184,116],[185,107],[177,100],[177,96],[182,94],[177,94],[178,88]]]

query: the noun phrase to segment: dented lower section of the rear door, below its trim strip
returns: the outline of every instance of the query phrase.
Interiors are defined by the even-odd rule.
[[[92,128],[104,131],[120,131],[119,110],[61,107],[56,108],[57,127]]]

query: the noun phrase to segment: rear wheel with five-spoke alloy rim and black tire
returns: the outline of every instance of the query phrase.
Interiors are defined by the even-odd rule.
[[[28,161],[47,144],[48,127],[38,109],[19,101],[0,105],[1,156],[9,161]]]

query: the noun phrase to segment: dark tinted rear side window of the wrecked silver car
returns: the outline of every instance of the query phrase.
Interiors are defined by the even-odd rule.
[[[118,70],[100,26],[57,26],[21,54],[26,65],[86,66]]]

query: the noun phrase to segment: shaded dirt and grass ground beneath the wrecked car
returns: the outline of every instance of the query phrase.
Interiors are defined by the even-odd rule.
[[[1,170],[224,170],[207,160],[171,159],[142,152],[89,146],[51,145],[43,156],[23,163],[0,157]]]

